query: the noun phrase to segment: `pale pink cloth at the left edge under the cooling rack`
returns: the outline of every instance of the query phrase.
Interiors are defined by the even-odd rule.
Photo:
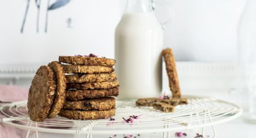
[[[0,101],[4,102],[14,102],[27,100],[28,98],[28,89],[13,86],[13,85],[0,85]],[[0,119],[6,118],[6,116],[1,115]],[[18,138],[22,137],[22,130],[17,130],[16,128],[11,128],[0,124],[0,138]]]

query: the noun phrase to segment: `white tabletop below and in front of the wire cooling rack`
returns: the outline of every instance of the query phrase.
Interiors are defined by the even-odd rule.
[[[248,124],[244,121],[242,117],[237,118],[231,122],[216,125],[217,138],[255,138],[256,136],[256,124]],[[212,132],[206,128],[206,133],[209,136],[212,136]],[[196,133],[201,133],[201,130],[193,131],[183,131],[189,134],[187,138],[194,138]],[[174,132],[173,132],[174,133]],[[174,134],[171,133],[170,136],[174,137]],[[35,135],[31,135],[31,138],[34,138]],[[109,138],[111,135],[94,135],[93,138]],[[134,134],[137,136],[137,134]],[[85,136],[78,135],[67,135],[67,134],[50,134],[50,133],[39,133],[40,138],[56,137],[56,138],[81,138]],[[151,134],[140,134],[140,137],[137,138],[161,138],[163,137],[162,133],[151,133]],[[123,138],[123,135],[118,135],[116,138]]]

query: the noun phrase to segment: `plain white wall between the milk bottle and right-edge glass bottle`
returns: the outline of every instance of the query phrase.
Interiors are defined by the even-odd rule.
[[[174,16],[164,31],[164,46],[173,48],[178,61],[235,61],[245,2],[170,0]]]

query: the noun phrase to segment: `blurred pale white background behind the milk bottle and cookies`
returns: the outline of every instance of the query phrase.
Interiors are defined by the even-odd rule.
[[[161,2],[156,1],[155,12],[161,22],[171,16],[164,28],[164,47],[172,47],[178,61],[183,93],[228,98],[236,85],[237,27],[246,1]],[[46,10],[48,1],[1,1],[0,83],[28,88],[39,65],[59,55],[96,53],[114,58],[114,29],[125,4],[50,1]],[[164,70],[163,91],[169,92]]]

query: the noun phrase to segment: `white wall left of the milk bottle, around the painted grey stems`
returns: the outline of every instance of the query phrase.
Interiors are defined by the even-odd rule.
[[[42,5],[46,1],[42,1]],[[28,19],[20,34],[27,1],[0,2],[0,64],[47,64],[58,55],[96,53],[114,58],[114,29],[119,22],[119,0],[76,0],[49,11],[48,33],[36,33],[37,8],[30,2]],[[45,15],[41,24],[44,25]],[[66,28],[67,18],[72,28]]]

